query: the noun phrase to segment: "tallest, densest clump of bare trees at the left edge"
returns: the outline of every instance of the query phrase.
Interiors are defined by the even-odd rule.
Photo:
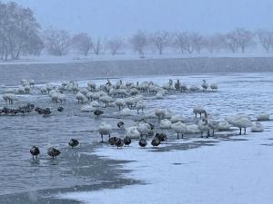
[[[40,53],[43,44],[39,37],[40,25],[29,8],[15,2],[0,3],[1,59],[18,59],[21,53]],[[35,42],[35,43],[34,43]]]

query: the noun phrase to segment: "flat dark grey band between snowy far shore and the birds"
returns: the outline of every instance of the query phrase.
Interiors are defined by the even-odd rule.
[[[273,57],[198,57],[85,63],[0,64],[0,72],[0,82],[8,84],[20,82],[22,79],[34,79],[35,82],[60,82],[190,73],[260,73],[273,72]]]

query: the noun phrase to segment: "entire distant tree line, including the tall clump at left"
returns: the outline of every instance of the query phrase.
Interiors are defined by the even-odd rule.
[[[91,36],[69,34],[68,31],[48,28],[42,30],[33,12],[15,2],[0,2],[0,59],[18,59],[20,55],[49,54],[63,56],[70,52],[83,55],[111,53],[116,55],[130,48],[143,57],[147,51],[163,54],[167,50],[180,53],[245,53],[249,48],[260,45],[269,53],[273,48],[273,31],[249,31],[235,28],[226,34],[200,34],[197,32],[157,31],[147,33],[138,30],[130,37]]]

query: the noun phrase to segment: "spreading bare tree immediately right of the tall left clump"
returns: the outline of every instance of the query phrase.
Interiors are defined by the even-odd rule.
[[[49,28],[45,31],[44,36],[48,53],[63,56],[69,52],[71,40],[67,31]]]

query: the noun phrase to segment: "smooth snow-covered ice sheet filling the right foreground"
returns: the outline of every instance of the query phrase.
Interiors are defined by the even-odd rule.
[[[136,160],[124,168],[147,185],[59,195],[85,203],[270,203],[273,199],[272,122],[263,133],[248,133],[247,141],[220,141],[187,151],[153,152],[133,143],[122,150],[105,147],[96,155]],[[245,136],[235,136],[246,139]],[[195,139],[198,140],[198,139]],[[216,139],[214,139],[216,140]],[[179,141],[189,142],[189,141]]]

